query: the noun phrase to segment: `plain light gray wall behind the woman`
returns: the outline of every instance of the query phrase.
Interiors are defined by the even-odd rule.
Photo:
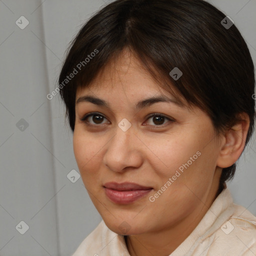
[[[209,1],[230,16],[256,59],[256,0]],[[71,255],[101,220],[78,171],[56,80],[69,41],[103,0],[0,0],[0,255]],[[20,29],[15,21],[25,16]],[[28,123],[19,130],[21,119]],[[22,128],[22,127],[20,127]],[[255,133],[228,184],[256,215]],[[29,229],[17,230],[24,221]],[[19,229],[15,228],[19,226]],[[23,229],[24,230],[24,229]]]

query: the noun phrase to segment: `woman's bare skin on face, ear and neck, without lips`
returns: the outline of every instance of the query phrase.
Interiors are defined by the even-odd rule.
[[[140,62],[123,50],[116,62],[108,63],[89,88],[78,88],[76,99],[92,95],[106,100],[110,108],[82,101],[75,105],[73,149],[82,181],[105,224],[127,235],[133,255],[169,255],[191,233],[212,204],[223,167],[241,154],[249,119],[216,136],[209,116],[197,107],[189,109],[173,102],[157,102],[140,110],[133,105],[155,95],[168,95]],[[101,121],[87,113],[103,115]],[[161,124],[151,113],[164,118]],[[126,118],[131,127],[118,123]],[[91,124],[91,125],[88,125]],[[196,160],[158,197],[168,178],[197,151]],[[105,195],[105,182],[135,182],[153,187],[146,196],[129,204],[117,204]],[[126,221],[125,233],[119,228]]]

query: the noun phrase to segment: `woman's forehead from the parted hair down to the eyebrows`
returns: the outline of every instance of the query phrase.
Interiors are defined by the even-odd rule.
[[[112,57],[90,84],[77,88],[76,103],[78,101],[93,101],[93,103],[108,107],[107,102],[128,99],[130,102],[137,102],[136,108],[143,107],[146,102],[148,105],[148,103],[157,101],[187,106],[185,100],[177,97],[176,93],[172,93],[175,92],[173,85],[167,86],[168,91],[159,86],[157,79],[145,69],[138,57],[126,48],[119,55]],[[100,101],[95,98],[105,100]],[[142,102],[141,99],[148,100]]]

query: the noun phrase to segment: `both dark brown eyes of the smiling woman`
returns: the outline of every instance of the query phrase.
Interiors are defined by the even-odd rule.
[[[170,119],[170,118],[168,118],[162,114],[158,114],[158,113],[153,113],[153,114],[149,115],[146,120],[148,120],[150,118],[152,118],[153,124],[149,124],[149,125],[152,125],[152,126],[161,126],[161,125],[165,124],[166,122],[163,123],[164,119],[167,119],[169,121],[174,121],[173,119]],[[92,113],[86,114],[82,118],[80,118],[80,120],[85,122],[86,125],[92,125],[92,126],[95,126],[97,124],[104,124],[104,123],[102,123],[103,119],[106,119],[106,117],[97,112],[92,112]],[[90,121],[93,121],[93,123],[91,123]],[[145,124],[143,124],[143,125],[145,125]]]

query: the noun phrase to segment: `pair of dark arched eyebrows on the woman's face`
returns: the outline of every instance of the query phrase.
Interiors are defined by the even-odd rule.
[[[97,98],[94,97],[92,95],[85,95],[85,96],[81,96],[79,98],[77,98],[76,100],[76,104],[80,103],[80,102],[91,102],[95,105],[99,105],[99,106],[104,106],[107,108],[111,108],[109,106],[109,104],[107,103],[107,101],[105,101],[104,99],[101,98]],[[168,98],[164,95],[159,95],[159,96],[153,96],[153,97],[148,97],[142,100],[139,100],[136,104],[135,104],[135,109],[141,109],[147,106],[152,105],[153,103],[157,103],[157,102],[172,102],[180,107],[184,106],[183,103],[181,103],[181,101],[177,101],[175,99],[172,98]]]

